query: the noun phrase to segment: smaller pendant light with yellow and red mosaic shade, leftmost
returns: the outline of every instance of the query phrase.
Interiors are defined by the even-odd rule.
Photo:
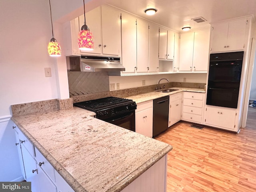
[[[52,24],[52,9],[51,9],[50,0],[49,0],[49,4],[50,4],[50,14],[51,14],[51,24]],[[52,38],[48,44],[48,53],[51,57],[59,57],[61,55],[60,44],[57,42],[57,40],[53,36],[53,27],[52,27]]]

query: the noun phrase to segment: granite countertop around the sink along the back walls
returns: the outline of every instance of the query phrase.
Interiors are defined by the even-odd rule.
[[[172,91],[172,92],[167,92],[167,93],[154,91],[154,92],[144,93],[144,94],[130,96],[130,97],[126,97],[126,98],[127,99],[132,99],[133,101],[136,102],[136,104],[138,104],[138,103],[141,103],[141,102],[161,98],[161,97],[164,97],[164,96],[176,94],[176,93],[183,92],[183,91],[205,93],[204,89],[198,89],[198,88],[172,87],[172,89],[178,89],[178,90]],[[162,89],[162,90],[164,90],[164,89]]]

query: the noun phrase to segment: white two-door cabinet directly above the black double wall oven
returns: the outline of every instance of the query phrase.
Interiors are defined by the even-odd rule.
[[[211,52],[243,50],[247,26],[247,18],[212,24]]]

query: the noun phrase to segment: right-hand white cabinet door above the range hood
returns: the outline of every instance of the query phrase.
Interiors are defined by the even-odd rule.
[[[102,6],[101,9],[102,53],[118,56],[121,54],[120,12],[106,6]]]

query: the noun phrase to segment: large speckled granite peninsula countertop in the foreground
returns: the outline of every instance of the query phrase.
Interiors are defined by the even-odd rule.
[[[172,146],[69,108],[12,117],[76,192],[119,192]]]

